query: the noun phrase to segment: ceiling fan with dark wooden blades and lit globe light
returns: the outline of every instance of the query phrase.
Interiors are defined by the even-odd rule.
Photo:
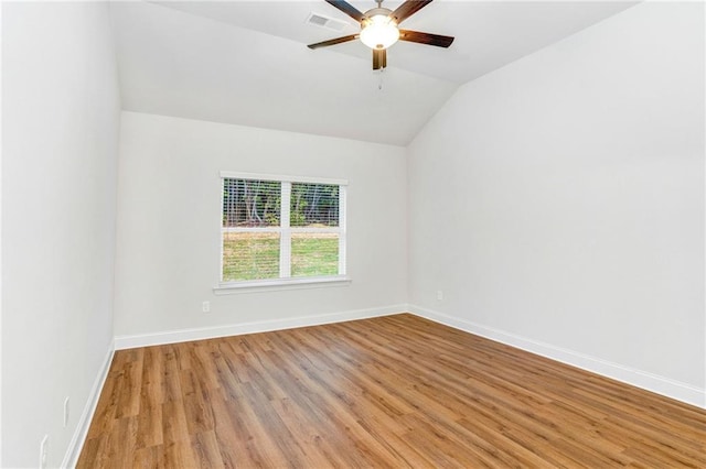
[[[361,23],[361,32],[309,44],[307,47],[327,47],[360,39],[363,44],[373,50],[374,70],[387,67],[387,47],[396,43],[397,40],[436,45],[437,47],[448,47],[453,42],[451,36],[399,29],[399,23],[431,3],[431,0],[407,0],[395,11],[382,7],[383,0],[376,0],[377,7],[365,13],[344,0],[325,0],[325,2]]]

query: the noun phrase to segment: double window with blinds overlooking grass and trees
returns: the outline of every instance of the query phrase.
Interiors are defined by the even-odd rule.
[[[222,287],[345,280],[346,182],[221,177]]]

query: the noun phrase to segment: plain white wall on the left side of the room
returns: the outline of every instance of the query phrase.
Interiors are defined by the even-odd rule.
[[[57,467],[113,348],[117,69],[106,3],[2,8],[0,466]]]

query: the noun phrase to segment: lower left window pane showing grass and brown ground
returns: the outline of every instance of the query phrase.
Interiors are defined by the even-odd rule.
[[[223,232],[223,282],[279,277],[279,233]]]

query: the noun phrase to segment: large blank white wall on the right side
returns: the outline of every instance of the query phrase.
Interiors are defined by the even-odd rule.
[[[413,310],[706,405],[703,8],[459,89],[409,148]]]

